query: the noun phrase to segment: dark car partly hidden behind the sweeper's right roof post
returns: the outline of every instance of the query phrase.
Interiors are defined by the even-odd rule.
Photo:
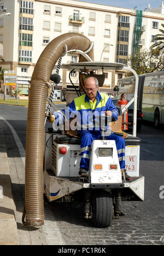
[[[120,108],[119,104],[117,103],[118,99],[112,98],[112,101],[117,108]],[[140,131],[142,127],[142,119],[143,113],[140,109],[137,109],[137,131]],[[128,123],[130,123],[128,124],[128,129],[131,129],[133,126],[133,103],[130,107],[128,107]]]

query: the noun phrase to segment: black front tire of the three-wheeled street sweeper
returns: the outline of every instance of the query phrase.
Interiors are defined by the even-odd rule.
[[[113,200],[107,191],[97,190],[92,194],[92,219],[96,228],[107,228],[113,219]]]

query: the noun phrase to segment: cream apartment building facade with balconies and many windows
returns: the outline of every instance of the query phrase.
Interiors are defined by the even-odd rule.
[[[2,18],[0,14],[0,69],[16,71],[22,95],[28,95],[28,81],[40,54],[52,39],[61,34],[84,34],[93,42],[95,61],[126,64],[127,56],[134,49],[149,49],[151,40],[164,23],[163,1],[155,10],[149,5],[147,10],[137,11],[74,0],[1,0],[0,10],[3,9],[11,14]],[[78,54],[75,53],[62,59],[62,63],[77,61]],[[113,88],[124,73],[105,71],[105,74],[102,91]],[[71,90],[68,76],[67,72],[66,84]],[[71,79],[78,85],[78,72],[73,72]],[[11,91],[10,87],[8,91]],[[61,100],[60,88],[56,94],[56,100]]]

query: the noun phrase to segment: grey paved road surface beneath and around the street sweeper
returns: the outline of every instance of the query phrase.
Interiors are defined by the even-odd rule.
[[[0,117],[13,126],[25,149],[27,108],[0,105]],[[7,144],[20,245],[164,245],[163,126],[156,130],[151,123],[144,123],[137,134],[142,138],[140,174],[145,177],[144,202],[124,202],[125,216],[114,219],[109,228],[97,229],[84,219],[83,205],[45,200],[45,225],[39,231],[21,225],[24,164],[9,126],[2,119],[0,126]]]

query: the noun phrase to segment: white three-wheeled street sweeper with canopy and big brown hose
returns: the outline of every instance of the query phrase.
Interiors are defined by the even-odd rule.
[[[40,68],[42,69],[42,72],[44,71],[46,54],[49,54],[51,48],[51,51],[54,52],[55,44],[55,47],[57,48],[56,52],[58,53],[58,50],[60,49],[60,54],[58,54],[57,57],[55,56],[56,59],[53,62],[54,66],[51,65],[51,72],[49,72],[49,75],[45,75],[44,79],[40,79],[38,72],[34,71],[31,81],[31,101],[29,102],[30,109],[28,109],[28,119],[30,120],[27,119],[26,194],[23,222],[26,225],[32,226],[43,224],[44,193],[49,202],[55,200],[58,202],[71,202],[76,199],[83,200],[84,218],[89,220],[95,227],[106,228],[110,226],[113,218],[120,218],[121,205],[124,201],[144,200],[144,177],[139,174],[140,138],[136,137],[138,75],[133,69],[126,67],[121,63],[93,61],[92,44],[86,37],[76,33],[68,33],[62,36],[65,40],[63,40],[62,37],[54,39],[55,42],[52,43],[52,45],[49,45],[47,51],[45,50],[40,56],[41,64],[39,64],[40,61],[38,61],[39,63],[36,65],[36,68],[38,67],[38,72]],[[81,45],[81,40],[85,43],[83,49],[80,49],[79,46]],[[70,42],[73,42],[73,46],[72,44],[70,46]],[[61,57],[70,53],[70,51],[76,51],[81,56],[80,62],[61,65]],[[51,58],[52,57],[53,56],[51,56]],[[55,66],[58,59],[58,64]],[[56,74],[51,75],[52,69],[54,68],[56,69]],[[63,113],[63,120],[65,120],[65,123],[62,124],[62,129],[61,124],[58,124],[60,126],[60,131],[55,129],[56,127],[52,124],[52,127],[49,127],[48,130],[45,129],[44,132],[44,126],[52,114],[51,107],[54,105],[52,104],[52,98],[55,87],[60,82],[60,76],[58,75],[59,68],[67,69],[70,72],[74,70],[79,72],[81,75],[81,77],[79,76],[79,89],[75,89],[79,95],[85,94],[84,79],[87,76],[96,77],[100,85],[100,80],[104,77],[104,70],[128,70],[131,71],[136,78],[136,84],[134,85],[133,97],[131,100],[122,109],[117,106],[119,112],[118,120],[109,120],[109,117],[106,117],[106,115],[102,115],[101,117],[104,126],[101,126],[101,137],[93,140],[91,144],[89,153],[90,164],[87,177],[79,177],[81,160],[80,138],[76,131],[66,129],[66,112]],[[48,69],[44,72],[46,73],[47,70]],[[52,85],[50,80],[54,82]],[[48,105],[45,106],[44,104],[43,115],[42,102],[46,101],[48,88],[50,87],[52,87],[52,91],[48,100]],[[46,92],[44,92],[45,88],[47,89]],[[32,134],[32,119],[34,117],[33,97],[37,92],[42,95],[40,101],[37,100],[38,111],[40,111],[39,118],[42,120],[37,121],[37,127],[35,124],[36,134],[34,135]],[[70,102],[71,100],[69,99],[68,107]],[[132,103],[134,104],[133,132],[132,135],[128,135],[121,130],[122,113],[126,114],[128,106]],[[58,109],[56,109],[56,112],[60,114],[62,113]],[[107,126],[109,129],[106,129]],[[40,132],[42,132],[42,137],[40,136]],[[131,177],[131,181],[126,180],[125,172],[120,168],[115,141],[106,139],[107,134],[109,136],[111,132],[125,138],[126,173]],[[31,136],[33,139],[36,139],[36,141],[32,140],[33,148],[30,141]],[[40,141],[41,138],[42,140]],[[33,155],[37,156],[37,161]],[[40,170],[41,167],[42,170]]]

